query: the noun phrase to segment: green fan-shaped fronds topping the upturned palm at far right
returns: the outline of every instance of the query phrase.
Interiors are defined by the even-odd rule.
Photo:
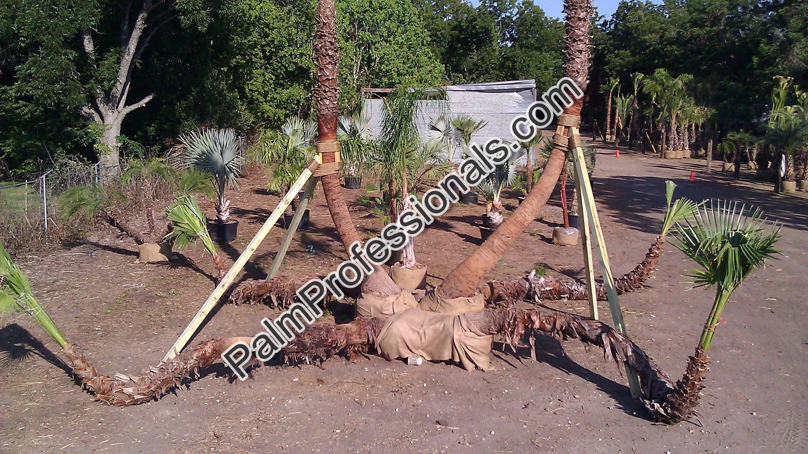
[[[766,221],[760,208],[711,200],[684,223],[676,223],[672,244],[701,266],[690,274],[696,287],[715,284],[732,292],[777,254],[773,246],[780,230],[764,229]]]

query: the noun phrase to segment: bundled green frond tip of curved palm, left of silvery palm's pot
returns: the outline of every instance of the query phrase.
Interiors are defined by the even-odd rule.
[[[172,229],[165,236],[166,241],[174,240],[175,246],[183,248],[191,242],[199,240],[213,256],[213,266],[216,267],[219,280],[227,273],[224,260],[221,259],[213,245],[213,239],[205,226],[206,219],[196,199],[190,195],[180,195],[166,208],[166,217],[171,221]]]

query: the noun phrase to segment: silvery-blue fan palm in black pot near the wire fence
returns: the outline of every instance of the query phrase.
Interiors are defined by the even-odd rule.
[[[242,153],[234,128],[200,129],[179,137],[183,145],[183,166],[196,167],[216,179],[216,219],[208,221],[211,238],[232,242],[238,233],[238,221],[230,219],[230,201],[225,197],[228,184],[236,184],[242,171]]]

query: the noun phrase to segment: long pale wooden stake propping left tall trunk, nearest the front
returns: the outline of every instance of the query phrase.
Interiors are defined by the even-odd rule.
[[[320,162],[319,156],[316,156],[314,159],[317,160],[318,163]],[[284,195],[284,198],[280,200],[278,206],[269,215],[267,221],[263,223],[258,233],[255,233],[255,237],[253,237],[252,241],[250,241],[250,244],[248,244],[244,252],[238,256],[236,263],[230,267],[227,274],[225,274],[225,277],[219,281],[219,284],[213,290],[213,293],[208,296],[208,300],[205,301],[202,307],[200,307],[199,311],[196,312],[196,315],[191,319],[191,322],[188,323],[188,326],[185,328],[185,330],[183,330],[183,334],[179,334],[177,342],[171,346],[168,353],[166,353],[166,356],[162,359],[163,361],[173,359],[179,354],[180,351],[183,351],[183,348],[185,348],[188,341],[191,340],[191,337],[196,334],[196,330],[199,329],[202,322],[204,322],[205,317],[208,317],[208,313],[210,313],[213,307],[217,305],[219,298],[221,298],[221,296],[225,293],[225,290],[229,288],[230,284],[233,284],[233,281],[236,279],[236,275],[242,271],[242,268],[247,263],[247,260],[252,257],[252,254],[254,254],[255,250],[258,249],[258,246],[261,244],[261,242],[263,242],[263,239],[267,238],[267,233],[269,233],[270,229],[275,226],[278,219],[280,219],[280,216],[283,216],[286,207],[292,203],[292,199],[297,197],[297,193],[300,192],[301,188],[309,180],[310,176],[311,170],[308,168],[303,169],[303,173],[297,177],[295,183],[293,183],[292,187],[289,188],[289,191],[286,193],[286,195]]]

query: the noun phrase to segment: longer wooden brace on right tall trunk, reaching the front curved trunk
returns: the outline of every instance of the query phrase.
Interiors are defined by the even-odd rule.
[[[573,136],[578,136],[578,128],[570,128],[570,149],[572,150],[572,157],[575,166],[575,175],[579,179],[581,191],[579,193],[579,200],[583,202],[583,212],[591,223],[591,228],[594,231],[595,248],[597,250],[598,262],[600,263],[600,274],[604,278],[604,287],[606,288],[606,296],[608,297],[609,309],[612,312],[612,321],[615,328],[622,334],[629,335],[625,330],[625,321],[623,320],[623,309],[620,307],[620,301],[617,299],[617,288],[614,285],[614,276],[612,275],[612,267],[608,263],[608,253],[606,252],[606,242],[604,242],[603,229],[600,228],[600,219],[598,218],[597,207],[595,207],[595,195],[592,194],[592,187],[589,181],[589,174],[587,174],[585,158],[583,157],[583,149],[580,146],[572,146],[574,141]],[[591,271],[587,271],[587,275]],[[589,293],[595,293],[595,288],[587,282]],[[642,389],[640,389],[640,380],[637,374],[630,371],[628,367],[625,368],[625,375],[629,379],[629,389],[631,389],[632,397],[642,397]]]

